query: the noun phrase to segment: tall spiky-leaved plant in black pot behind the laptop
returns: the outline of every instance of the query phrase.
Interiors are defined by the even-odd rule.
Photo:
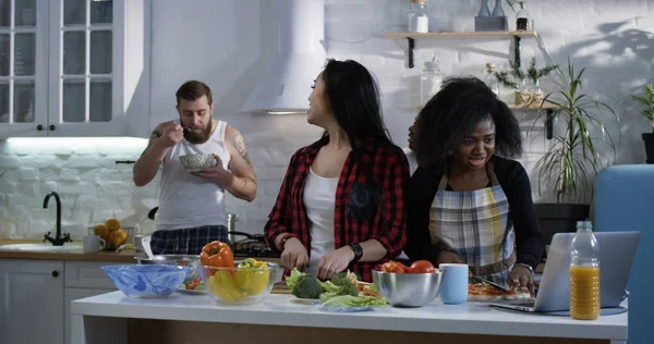
[[[538,173],[538,194],[542,195],[542,186],[547,183],[556,199],[555,204],[535,205],[546,244],[554,233],[574,231],[576,222],[589,217],[590,206],[580,200],[592,185],[591,177],[603,167],[601,157],[608,157],[608,150],[613,150],[615,159],[613,137],[595,111],[605,110],[619,123],[618,115],[608,105],[583,93],[585,69],[577,72],[568,59],[567,73],[558,67],[556,71],[560,77],[556,82],[558,89],[544,98],[544,103],[554,109],[538,111],[534,122],[535,125],[544,116],[546,123],[562,122],[559,127],[554,127],[553,144],[534,167]]]

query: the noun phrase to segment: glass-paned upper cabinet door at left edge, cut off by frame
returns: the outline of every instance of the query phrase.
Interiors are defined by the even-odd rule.
[[[47,134],[47,39],[48,0],[0,0],[0,137]]]

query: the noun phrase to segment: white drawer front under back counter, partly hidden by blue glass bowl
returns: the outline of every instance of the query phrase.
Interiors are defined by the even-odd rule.
[[[65,261],[65,287],[117,290],[101,267],[120,265],[96,261]]]

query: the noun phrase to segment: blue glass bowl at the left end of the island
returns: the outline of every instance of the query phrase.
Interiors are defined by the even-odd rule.
[[[168,297],[191,272],[191,267],[168,265],[105,266],[111,282],[130,297]]]

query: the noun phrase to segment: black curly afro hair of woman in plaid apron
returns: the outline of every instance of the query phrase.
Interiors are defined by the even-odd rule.
[[[467,133],[480,122],[495,122],[495,153],[516,158],[522,137],[513,112],[476,77],[451,77],[420,111],[414,124],[415,158],[421,165],[443,165]]]

